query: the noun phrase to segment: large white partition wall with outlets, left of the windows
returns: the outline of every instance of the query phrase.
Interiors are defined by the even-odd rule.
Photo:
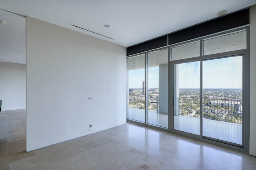
[[[26,73],[27,151],[126,123],[125,47],[27,17]]]

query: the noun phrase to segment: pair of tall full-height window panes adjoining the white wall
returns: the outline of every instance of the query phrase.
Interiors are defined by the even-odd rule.
[[[127,76],[127,118],[168,128],[168,49],[129,57]]]

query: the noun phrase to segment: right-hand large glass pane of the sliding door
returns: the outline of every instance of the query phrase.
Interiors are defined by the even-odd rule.
[[[203,61],[203,135],[242,145],[242,61]]]

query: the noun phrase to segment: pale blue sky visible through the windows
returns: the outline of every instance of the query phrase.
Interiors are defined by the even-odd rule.
[[[178,64],[179,88],[200,88],[200,61]],[[129,88],[142,88],[144,69],[129,71]],[[148,69],[148,87],[158,88],[158,67]],[[242,88],[242,56],[203,61],[204,88]]]

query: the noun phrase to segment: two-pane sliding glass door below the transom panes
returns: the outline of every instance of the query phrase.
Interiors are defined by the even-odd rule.
[[[171,68],[174,130],[242,145],[243,55],[172,64]]]

